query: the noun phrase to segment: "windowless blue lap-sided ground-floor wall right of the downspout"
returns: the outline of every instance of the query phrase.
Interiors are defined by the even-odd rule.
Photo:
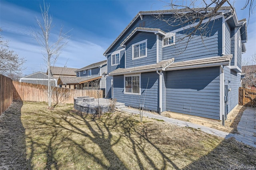
[[[166,110],[219,119],[220,67],[168,71]]]

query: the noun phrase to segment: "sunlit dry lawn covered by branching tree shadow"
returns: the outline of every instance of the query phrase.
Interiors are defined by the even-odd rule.
[[[40,116],[40,113],[37,114]],[[30,160],[38,154],[34,151],[35,146],[42,147],[47,159],[44,169],[63,168],[63,162],[59,160],[58,155],[64,154],[61,153],[64,151],[60,150],[65,150],[70,156],[71,162],[66,162],[70,165],[68,168],[166,169],[168,162],[175,169],[179,169],[148,139],[147,135],[155,129],[148,129],[139,121],[112,114],[105,114],[104,118],[93,118],[90,114],[70,113],[70,110],[60,112],[57,116],[47,112],[45,114],[44,120],[47,121],[38,119],[37,123],[40,127],[38,130],[41,131],[40,136],[47,136],[48,142],[40,142],[40,139],[34,139],[33,134],[28,135]],[[141,127],[138,129],[138,126]],[[162,157],[162,164],[156,165],[148,145]],[[127,159],[136,164],[129,164]],[[75,164],[87,161],[88,167],[72,165],[72,161]]]

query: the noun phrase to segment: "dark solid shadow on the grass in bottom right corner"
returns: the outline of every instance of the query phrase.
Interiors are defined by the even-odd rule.
[[[240,167],[239,167],[240,166]],[[214,150],[192,162],[184,170],[255,169],[256,148],[236,141],[223,140]]]

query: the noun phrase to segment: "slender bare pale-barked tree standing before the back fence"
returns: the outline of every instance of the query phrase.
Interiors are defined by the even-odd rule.
[[[36,18],[36,23],[40,28],[40,31],[34,31],[32,30],[32,36],[35,38],[35,40],[39,43],[39,45],[43,48],[42,55],[45,63],[47,64],[48,69],[48,108],[52,108],[52,87],[50,85],[50,79],[51,79],[51,71],[50,66],[54,66],[56,63],[60,53],[62,52],[62,49],[67,45],[68,43],[68,32],[64,33],[62,32],[62,27],[60,28],[60,33],[58,34],[58,38],[54,41],[53,36],[50,37],[50,33],[52,29],[54,28],[54,25],[52,24],[52,16],[49,15],[49,8],[50,5],[45,4],[42,7],[40,5],[41,13],[42,13],[42,19],[41,22],[40,19]]]

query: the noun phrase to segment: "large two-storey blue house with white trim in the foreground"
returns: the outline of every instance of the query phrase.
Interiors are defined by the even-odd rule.
[[[187,39],[181,38],[189,27],[176,28],[155,17],[168,20],[172,10],[139,12],[104,52],[106,97],[160,113],[222,120],[238,105],[247,33],[246,20],[238,20],[230,7],[218,12],[207,25],[210,34],[196,34],[185,49]]]

